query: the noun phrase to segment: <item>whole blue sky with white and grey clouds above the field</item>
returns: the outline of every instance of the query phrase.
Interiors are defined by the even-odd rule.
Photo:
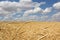
[[[60,0],[0,0],[0,21],[60,21]]]

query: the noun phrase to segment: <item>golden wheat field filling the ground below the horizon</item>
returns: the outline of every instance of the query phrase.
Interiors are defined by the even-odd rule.
[[[0,22],[0,40],[60,40],[60,22]]]

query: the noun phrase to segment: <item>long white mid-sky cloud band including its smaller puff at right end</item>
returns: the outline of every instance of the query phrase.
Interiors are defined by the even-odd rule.
[[[52,11],[51,7],[46,8],[45,10],[41,9],[40,7],[35,7],[34,9],[25,11],[23,16],[29,16],[29,14],[38,14],[38,13],[44,15],[50,13],[51,11]]]

